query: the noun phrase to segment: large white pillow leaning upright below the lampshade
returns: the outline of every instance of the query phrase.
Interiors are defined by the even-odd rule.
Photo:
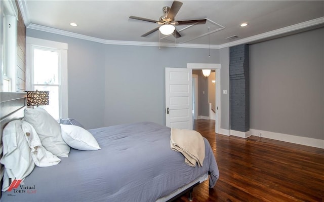
[[[70,147],[61,136],[60,125],[43,108],[26,108],[24,110],[25,121],[34,127],[42,145],[58,157],[68,157]]]

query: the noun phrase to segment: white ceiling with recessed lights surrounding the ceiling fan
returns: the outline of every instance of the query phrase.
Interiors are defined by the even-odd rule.
[[[82,37],[103,43],[158,43],[159,25],[129,19],[158,20],[173,1],[29,1],[19,0],[28,28]],[[324,1],[181,1],[175,20],[207,19],[205,25],[176,26],[179,45],[223,46],[324,24]],[[69,25],[78,24],[77,27]],[[247,22],[247,27],[239,24]],[[210,35],[208,36],[208,27]],[[229,40],[226,37],[237,35]],[[175,43],[173,36],[161,43]],[[163,38],[163,39],[162,39]]]

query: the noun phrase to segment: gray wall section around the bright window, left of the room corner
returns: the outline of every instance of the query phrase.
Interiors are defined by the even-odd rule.
[[[68,114],[86,128],[104,126],[105,46],[33,29],[26,36],[68,44]]]

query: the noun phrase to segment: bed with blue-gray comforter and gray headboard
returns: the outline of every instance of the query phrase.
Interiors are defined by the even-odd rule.
[[[24,99],[24,93],[1,93],[1,130],[23,117]],[[16,192],[2,192],[1,201],[168,201],[208,179],[211,188],[218,179],[205,138],[203,166],[190,167],[170,149],[166,126],[141,122],[88,131],[101,149],[71,148],[59,164],[35,166]],[[2,166],[2,178],[3,172]]]

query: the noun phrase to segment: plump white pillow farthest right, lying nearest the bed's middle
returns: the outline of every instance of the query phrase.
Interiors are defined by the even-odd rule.
[[[93,135],[84,128],[74,125],[61,126],[63,140],[72,148],[78,150],[98,150],[101,149]]]

